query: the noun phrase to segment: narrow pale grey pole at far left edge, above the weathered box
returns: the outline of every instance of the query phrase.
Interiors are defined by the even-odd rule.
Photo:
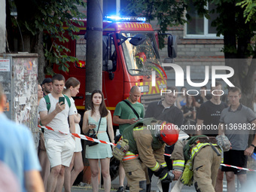
[[[5,53],[5,32],[6,32],[6,26],[5,26],[5,20],[6,20],[6,14],[5,14],[5,0],[0,0],[0,53]]]

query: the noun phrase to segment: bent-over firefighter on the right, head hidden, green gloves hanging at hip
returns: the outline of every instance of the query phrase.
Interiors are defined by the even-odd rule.
[[[175,144],[171,159],[173,160],[174,180],[190,186],[194,182],[197,192],[215,192],[218,169],[222,160],[222,151],[230,149],[226,136],[193,136]],[[172,191],[181,191],[173,187]]]

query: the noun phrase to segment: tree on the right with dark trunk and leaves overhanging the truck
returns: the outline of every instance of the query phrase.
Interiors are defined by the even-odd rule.
[[[190,16],[188,14],[185,14],[186,18],[182,18],[184,10],[190,8],[188,5],[191,2],[201,17],[209,18],[209,11],[206,10],[208,1],[206,0],[130,0],[130,4],[123,12],[147,17],[149,21],[157,19],[160,32],[166,32],[167,26],[184,24],[185,19],[189,22]],[[246,20],[246,17],[243,16],[245,7],[236,5],[239,2],[242,1],[210,1],[210,3],[216,5],[212,12],[218,13],[218,17],[213,20],[212,26],[216,27],[217,35],[224,35],[225,65],[232,67],[235,72],[230,81],[241,88],[242,103],[252,108],[256,52],[255,44],[251,44],[251,40],[254,38],[254,32],[256,31],[256,17],[255,12],[251,11],[250,20]]]

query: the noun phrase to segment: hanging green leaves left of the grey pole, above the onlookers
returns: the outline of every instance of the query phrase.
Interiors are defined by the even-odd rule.
[[[26,0],[26,3],[30,3],[31,6],[35,5],[32,6],[32,11],[26,13],[26,11],[19,12],[24,5],[20,4],[19,0],[14,1],[16,1],[18,18],[23,19],[26,30],[32,35],[44,32],[44,36],[49,36],[51,39],[50,41],[48,38],[48,44],[44,44],[44,55],[48,63],[46,72],[53,75],[53,70],[48,69],[53,63],[62,71],[68,72],[68,62],[75,62],[77,59],[69,56],[70,50],[65,47],[65,44],[69,42],[68,36],[71,36],[72,40],[78,39],[73,32],[78,32],[78,26],[83,26],[84,23],[72,19],[85,18],[85,15],[78,11],[77,6],[85,7],[86,4],[82,0]]]

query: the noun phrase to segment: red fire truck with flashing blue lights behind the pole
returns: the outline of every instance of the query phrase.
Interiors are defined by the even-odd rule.
[[[66,43],[71,50],[70,55],[77,57],[79,62],[70,65],[69,72],[59,71],[56,65],[53,65],[53,71],[61,73],[66,79],[78,78],[81,87],[75,104],[78,110],[84,111],[87,20],[81,21],[84,26],[80,26],[76,34],[79,40],[69,39]],[[144,22],[145,18],[142,17],[108,17],[103,22],[102,92],[112,114],[117,102],[126,99],[134,85],[141,88],[141,102],[145,107],[148,102],[160,99],[160,90],[166,89],[166,74],[160,63],[157,33],[151,24]],[[170,56],[172,36],[169,36],[168,42]],[[155,76],[152,77],[152,74]],[[152,82],[155,86],[152,86]]]

